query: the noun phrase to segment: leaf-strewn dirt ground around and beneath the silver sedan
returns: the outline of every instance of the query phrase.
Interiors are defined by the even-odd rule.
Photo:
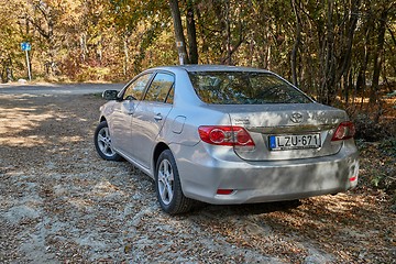
[[[0,95],[0,263],[395,263],[393,143],[360,142],[346,194],[169,217],[147,176],[95,153],[102,102]]]

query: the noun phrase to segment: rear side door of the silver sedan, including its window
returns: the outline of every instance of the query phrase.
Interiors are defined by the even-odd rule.
[[[132,155],[146,168],[151,166],[157,135],[173,107],[174,84],[173,74],[157,73],[133,113]]]

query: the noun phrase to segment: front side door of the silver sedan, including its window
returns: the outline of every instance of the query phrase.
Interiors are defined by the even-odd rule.
[[[114,106],[110,128],[113,134],[113,146],[128,156],[131,155],[132,150],[132,117],[152,76],[152,73],[143,74],[128,84],[121,91],[121,100]]]

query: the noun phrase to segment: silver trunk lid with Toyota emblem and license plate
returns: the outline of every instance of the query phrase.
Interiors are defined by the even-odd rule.
[[[243,127],[255,147],[234,146],[245,161],[284,161],[333,155],[342,142],[331,142],[338,124],[345,121],[342,110],[320,103],[287,103],[233,107],[232,125]]]

